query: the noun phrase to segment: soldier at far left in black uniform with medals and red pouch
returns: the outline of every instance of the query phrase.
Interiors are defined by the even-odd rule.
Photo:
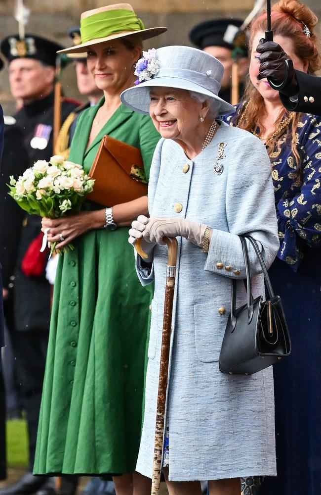
[[[53,154],[56,51],[62,48],[31,34],[26,34],[24,39],[19,35],[8,36],[0,45],[9,62],[12,96],[23,102],[14,118],[22,132],[28,167],[39,159],[49,160]],[[78,104],[66,99],[61,102],[62,122]],[[21,143],[17,142],[16,146],[21,146]],[[12,172],[15,175],[14,170]],[[50,286],[44,274],[46,259],[40,256],[34,264],[36,269],[31,266],[28,273],[21,268],[22,261],[32,265],[35,255],[39,254],[40,228],[40,217],[24,216],[14,259],[12,313],[11,317],[8,315],[28,423],[29,469],[19,482],[0,490],[1,495],[30,495],[40,489],[45,494],[53,490],[52,479],[32,475],[50,320]]]

